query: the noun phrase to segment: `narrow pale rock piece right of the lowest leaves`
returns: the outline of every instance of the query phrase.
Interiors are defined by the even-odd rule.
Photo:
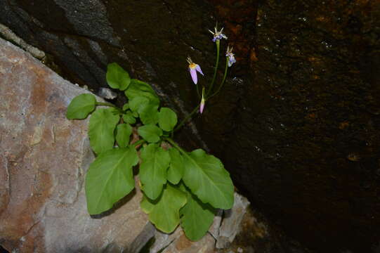
[[[235,239],[235,235],[240,231],[243,216],[249,206],[249,201],[246,197],[238,193],[235,193],[234,197],[235,202],[233,207],[224,211],[223,221],[216,240],[216,248],[218,249],[228,247]]]

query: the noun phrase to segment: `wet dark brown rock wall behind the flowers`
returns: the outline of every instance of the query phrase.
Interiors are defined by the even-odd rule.
[[[221,157],[252,205],[315,252],[379,248],[379,1],[4,0],[0,10],[72,82],[98,91],[117,62],[180,115],[199,101],[185,58],[202,66],[201,84],[211,79],[218,20],[237,65],[181,144]]]

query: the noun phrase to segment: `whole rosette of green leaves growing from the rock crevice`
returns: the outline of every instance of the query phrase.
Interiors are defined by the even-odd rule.
[[[233,205],[230,174],[218,158],[202,149],[188,153],[169,137],[177,115],[170,108],[159,108],[159,98],[149,84],[131,79],[117,63],[108,65],[106,79],[112,89],[124,91],[128,103],[123,108],[111,104],[98,108],[107,103],[98,103],[88,93],[75,97],[67,108],[68,119],[91,114],[89,137],[96,160],[86,174],[89,214],[105,212],[131,193],[133,167],[140,153],[143,211],[159,230],[171,233],[181,223],[190,240],[199,240],[207,233],[216,209]],[[133,125],[142,138],[136,143],[131,143]]]

